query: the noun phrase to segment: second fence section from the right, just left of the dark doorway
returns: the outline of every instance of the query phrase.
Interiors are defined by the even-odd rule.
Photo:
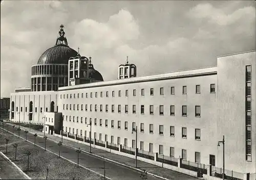
[[[182,160],[181,168],[198,172],[198,177],[202,177],[202,174],[207,174],[207,166],[201,163],[194,163],[194,162]]]

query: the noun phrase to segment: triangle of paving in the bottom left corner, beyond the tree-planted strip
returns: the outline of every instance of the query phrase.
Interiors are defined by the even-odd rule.
[[[2,179],[28,179],[10,161],[0,154],[0,178]]]

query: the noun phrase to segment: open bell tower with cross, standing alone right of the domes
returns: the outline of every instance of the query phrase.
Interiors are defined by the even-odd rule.
[[[137,75],[137,67],[135,64],[129,64],[128,56],[126,63],[118,67],[118,79],[134,78]]]

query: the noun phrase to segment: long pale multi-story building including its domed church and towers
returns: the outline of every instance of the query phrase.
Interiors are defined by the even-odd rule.
[[[225,169],[255,174],[255,50],[218,57],[214,67],[140,77],[127,61],[118,80],[104,82],[91,57],[59,34],[32,66],[31,89],[11,93],[12,121],[56,133],[47,112],[57,113],[62,132],[132,148],[137,129],[141,150],[220,168],[225,136]]]

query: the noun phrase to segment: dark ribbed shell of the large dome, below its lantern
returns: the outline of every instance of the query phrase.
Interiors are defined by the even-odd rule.
[[[69,58],[77,56],[77,52],[65,44],[57,44],[45,51],[37,64],[68,64]]]

